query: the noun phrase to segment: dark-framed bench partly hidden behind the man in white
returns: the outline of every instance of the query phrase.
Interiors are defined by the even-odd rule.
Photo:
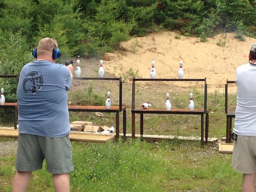
[[[226,113],[226,143],[231,143],[232,118],[235,118],[235,110],[228,109],[228,87],[229,84],[235,84],[235,81],[228,81],[225,84],[225,113]]]

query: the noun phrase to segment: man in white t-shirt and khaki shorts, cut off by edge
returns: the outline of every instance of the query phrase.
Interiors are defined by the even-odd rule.
[[[232,168],[243,173],[242,192],[255,192],[256,181],[256,42],[249,62],[236,69],[237,104]]]

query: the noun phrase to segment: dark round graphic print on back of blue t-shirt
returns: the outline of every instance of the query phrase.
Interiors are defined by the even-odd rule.
[[[23,89],[28,95],[37,94],[43,87],[42,72],[30,72],[28,74],[22,74]]]

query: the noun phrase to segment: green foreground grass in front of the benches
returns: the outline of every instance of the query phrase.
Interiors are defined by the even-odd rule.
[[[198,142],[140,140],[108,144],[73,142],[71,192],[238,192],[242,175],[231,155]],[[0,157],[0,191],[12,190],[14,156]],[[51,175],[33,172],[28,192],[54,192]]]

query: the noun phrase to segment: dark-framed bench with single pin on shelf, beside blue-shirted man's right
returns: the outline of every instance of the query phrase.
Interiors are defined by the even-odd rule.
[[[126,136],[126,106],[122,105],[122,77],[112,78],[112,77],[74,77],[74,80],[93,80],[93,81],[119,81],[119,105],[111,106],[110,109],[107,109],[105,106],[74,106],[69,105],[69,111],[82,111],[82,112],[107,112],[107,113],[116,113],[116,140],[119,138],[119,114],[123,112],[123,137]]]

